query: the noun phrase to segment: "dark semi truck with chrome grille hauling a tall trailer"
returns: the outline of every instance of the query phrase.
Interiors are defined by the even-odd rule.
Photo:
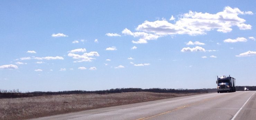
[[[217,76],[217,92],[236,92],[236,79],[229,76]]]

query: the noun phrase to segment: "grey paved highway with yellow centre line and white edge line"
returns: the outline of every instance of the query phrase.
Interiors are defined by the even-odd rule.
[[[216,92],[31,120],[256,120],[255,92]]]

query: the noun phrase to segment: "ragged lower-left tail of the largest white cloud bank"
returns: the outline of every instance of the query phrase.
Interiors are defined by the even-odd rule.
[[[156,40],[160,35],[155,35],[155,34],[150,34],[150,33],[145,33],[145,32],[131,32],[127,28],[125,28],[122,31],[122,34],[125,35],[131,35],[134,37],[139,37],[138,41],[131,41],[132,43],[135,44],[142,44],[142,43],[147,43],[147,40]]]

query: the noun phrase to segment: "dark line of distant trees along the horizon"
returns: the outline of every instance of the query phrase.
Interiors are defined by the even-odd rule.
[[[243,91],[244,88],[249,90],[256,90],[256,86],[236,86],[236,91]],[[35,97],[35,96],[44,96],[44,95],[64,95],[64,94],[111,94],[111,93],[121,93],[121,92],[157,92],[157,93],[188,93],[188,92],[200,92],[200,93],[210,93],[217,92],[216,88],[207,88],[207,89],[161,89],[161,88],[116,88],[109,90],[97,90],[97,91],[85,91],[85,90],[73,90],[73,91],[58,91],[58,92],[43,92],[43,91],[34,91],[34,92],[21,92],[17,90],[2,90],[0,89],[0,99],[1,98],[21,98],[21,97]]]

